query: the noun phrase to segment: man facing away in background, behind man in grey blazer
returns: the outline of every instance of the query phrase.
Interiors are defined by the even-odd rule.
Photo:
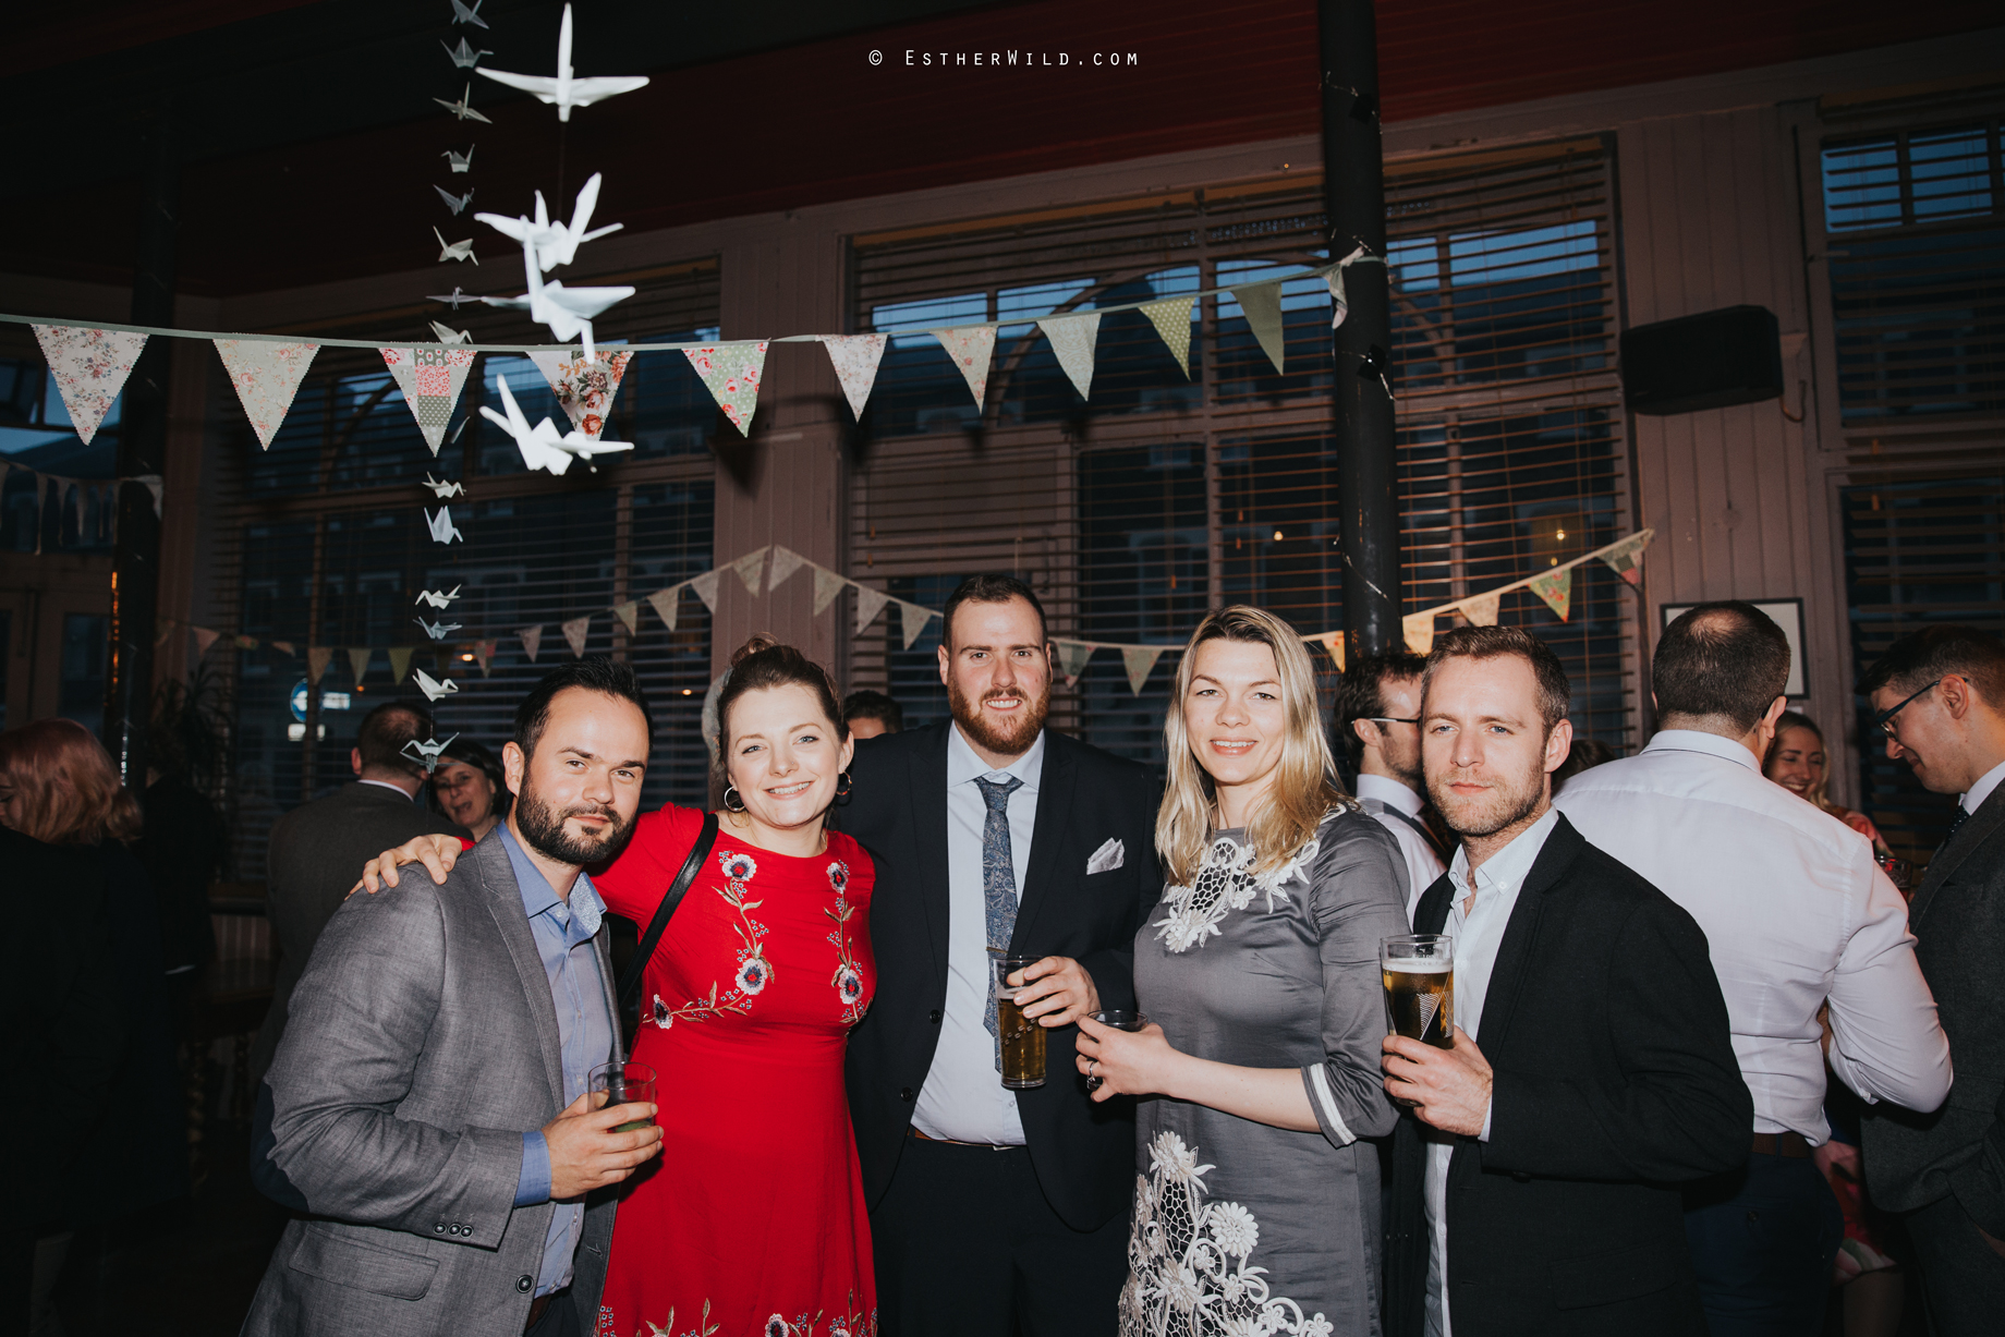
[[[363,716],[355,736],[349,754],[355,782],[301,804],[271,826],[265,906],[279,934],[279,978],[251,1046],[253,1086],[279,1048],[293,988],[313,956],[313,944],[355,886],[363,860],[387,848],[385,840],[401,842],[425,832],[467,836],[465,828],[411,802],[417,786],[425,784],[425,768],[403,756],[403,748],[417,738],[431,738],[431,714],[411,702],[383,702]]]

